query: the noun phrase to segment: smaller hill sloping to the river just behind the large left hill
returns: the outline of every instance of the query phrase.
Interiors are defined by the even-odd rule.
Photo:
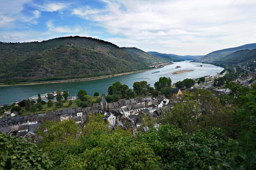
[[[138,48],[135,48],[135,47],[121,47],[121,49],[125,50],[126,52],[129,52],[133,55],[135,55],[136,57],[140,57],[140,58],[143,58],[143,59],[146,59],[146,61],[150,64],[153,64],[153,63],[159,63],[159,62],[162,62],[163,60],[162,59],[159,59],[158,57],[152,55],[152,54],[148,54],[147,52],[143,51],[143,50],[140,50]]]

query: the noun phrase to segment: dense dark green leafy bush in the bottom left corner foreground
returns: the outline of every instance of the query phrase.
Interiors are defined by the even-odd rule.
[[[0,169],[52,169],[53,162],[36,144],[0,133]]]

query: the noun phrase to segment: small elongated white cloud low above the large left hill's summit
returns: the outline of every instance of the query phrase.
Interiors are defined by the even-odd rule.
[[[52,21],[48,21],[46,26],[49,31],[54,31],[57,33],[80,33],[82,31],[79,26],[75,26],[74,28],[70,28],[69,26],[54,26]]]

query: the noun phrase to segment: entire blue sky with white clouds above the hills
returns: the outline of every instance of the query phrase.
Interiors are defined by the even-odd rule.
[[[256,0],[0,0],[0,41],[94,37],[178,55],[256,43]]]

